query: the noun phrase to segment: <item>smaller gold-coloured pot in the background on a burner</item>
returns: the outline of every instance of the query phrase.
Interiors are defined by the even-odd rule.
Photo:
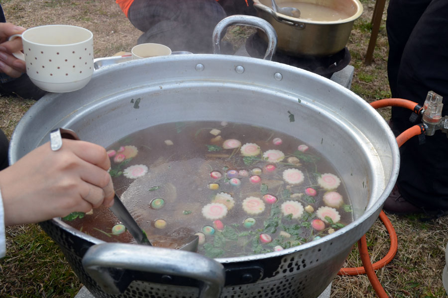
[[[359,0],[276,0],[279,6],[284,2],[312,3],[349,15],[337,21],[314,21],[276,13],[271,0],[253,2],[257,16],[277,31],[278,51],[292,56],[329,56],[341,51],[348,42],[353,22],[363,10]]]

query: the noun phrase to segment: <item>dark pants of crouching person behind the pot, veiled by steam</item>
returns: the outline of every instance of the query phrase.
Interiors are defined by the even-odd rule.
[[[128,12],[132,25],[144,32],[137,44],[192,53],[212,53],[213,30],[226,16],[216,0],[134,0]]]

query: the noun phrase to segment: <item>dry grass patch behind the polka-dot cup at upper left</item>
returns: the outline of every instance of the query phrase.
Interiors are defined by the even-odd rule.
[[[129,51],[140,31],[135,29],[113,0],[6,0],[2,5],[7,21],[25,28],[67,24],[94,33],[95,57]],[[36,11],[38,13],[36,13]]]

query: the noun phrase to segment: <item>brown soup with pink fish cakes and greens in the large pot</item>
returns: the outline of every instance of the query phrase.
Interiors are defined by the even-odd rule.
[[[226,122],[150,127],[109,148],[114,187],[155,246],[198,234],[198,252],[271,252],[352,222],[336,169],[313,148],[266,128]],[[106,208],[66,222],[108,242],[134,242]]]

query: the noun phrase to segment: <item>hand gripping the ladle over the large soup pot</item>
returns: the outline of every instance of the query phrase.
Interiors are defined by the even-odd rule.
[[[37,223],[113,204],[111,161],[98,145],[63,139],[46,143],[0,171],[4,224]]]

